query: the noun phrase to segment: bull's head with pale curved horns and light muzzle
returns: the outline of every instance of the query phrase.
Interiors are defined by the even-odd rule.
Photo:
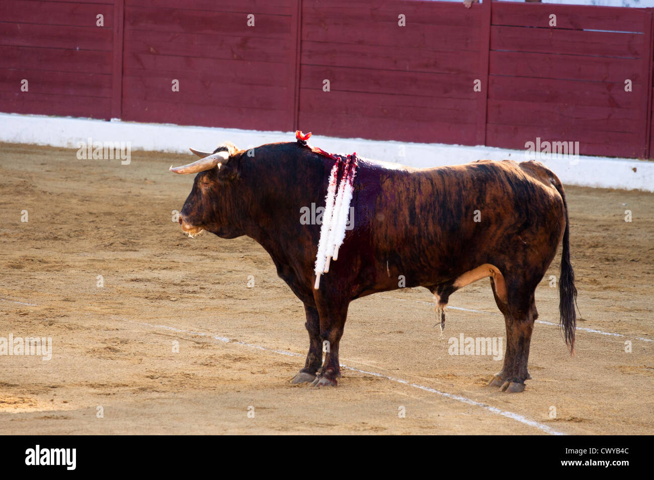
[[[170,167],[174,173],[198,174],[179,214],[182,231],[190,237],[203,231],[222,238],[241,236],[243,232],[235,218],[235,183],[242,152],[230,142],[221,144],[213,153],[190,150],[201,158],[182,167]]]

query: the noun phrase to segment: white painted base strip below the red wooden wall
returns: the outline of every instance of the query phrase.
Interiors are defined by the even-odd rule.
[[[88,138],[92,138],[94,142],[131,142],[132,150],[192,155],[188,152],[188,147],[191,146],[199,150],[213,150],[220,142],[230,140],[239,148],[250,148],[264,143],[291,142],[295,136],[291,132],[0,113],[0,142],[76,148],[77,142],[87,142]],[[456,165],[477,159],[525,161],[534,158],[533,154],[529,156],[523,150],[485,146],[419,144],[320,135],[313,135],[309,143],[327,152],[356,152],[361,157],[402,163],[411,167]],[[183,159],[181,163],[186,160],[188,159]],[[654,162],[587,156],[578,157],[578,163],[563,158],[538,160],[551,168],[566,185],[654,192]],[[167,168],[167,165],[165,167]]]

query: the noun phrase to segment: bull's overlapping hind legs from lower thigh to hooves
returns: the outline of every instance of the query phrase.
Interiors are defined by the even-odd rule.
[[[500,312],[504,314],[506,324],[506,352],[504,366],[490,381],[490,385],[500,387],[504,392],[522,392],[525,380],[531,379],[527,370],[529,346],[531,343],[534,321],[538,318],[534,294],[523,296],[509,295],[506,301],[500,298],[491,280],[493,295]],[[520,301],[523,300],[523,301]]]

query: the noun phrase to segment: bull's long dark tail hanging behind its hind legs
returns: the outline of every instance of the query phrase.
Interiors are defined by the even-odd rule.
[[[557,182],[555,187],[561,199],[563,199],[563,209],[566,214],[566,229],[563,233],[563,251],[561,253],[559,278],[559,325],[563,330],[566,345],[570,348],[570,353],[574,355],[574,334],[577,328],[577,315],[575,311],[577,288],[574,286],[574,270],[572,270],[572,264],[570,263],[570,220],[568,220],[568,204],[566,203],[563,185]]]

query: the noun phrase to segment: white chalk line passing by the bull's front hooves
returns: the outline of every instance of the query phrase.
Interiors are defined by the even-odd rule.
[[[294,352],[284,351],[284,350],[280,350],[280,349],[273,349],[273,348],[269,348],[269,347],[264,347],[262,345],[250,344],[248,342],[243,342],[241,340],[231,340],[230,338],[223,337],[223,336],[217,336],[217,335],[212,336],[211,334],[207,334],[207,333],[193,332],[193,331],[190,331],[190,330],[182,330],[182,328],[168,327],[167,325],[154,325],[153,323],[138,322],[138,321],[135,321],[135,320],[122,319],[122,318],[119,318],[119,317],[111,317],[111,318],[112,319],[118,319],[118,320],[121,320],[121,321],[128,321],[129,323],[134,323],[135,325],[142,325],[144,327],[162,328],[163,330],[171,330],[171,331],[177,332],[177,333],[186,333],[186,334],[191,334],[191,335],[206,336],[206,337],[210,337],[210,338],[213,338],[215,340],[218,340],[220,342],[224,342],[226,344],[243,345],[245,347],[250,347],[250,348],[254,348],[254,349],[258,349],[258,350],[264,350],[264,351],[269,351],[269,352],[273,352],[273,353],[279,353],[281,355],[287,355],[288,357],[303,357],[303,355],[300,355],[300,353],[294,353]],[[403,385],[408,385],[409,387],[413,387],[415,389],[421,389],[421,390],[426,391],[426,392],[435,393],[437,395],[443,396],[444,398],[449,398],[451,400],[456,400],[456,401],[462,402],[464,404],[468,404],[468,405],[472,405],[472,406],[475,406],[475,407],[483,408],[483,409],[485,409],[487,411],[490,411],[490,413],[496,413],[497,415],[502,415],[502,417],[507,417],[507,418],[515,420],[517,422],[524,423],[524,424],[526,424],[528,426],[538,428],[539,430],[542,430],[543,432],[551,434],[551,435],[565,435],[563,432],[559,432],[559,430],[555,430],[554,428],[551,428],[550,426],[547,426],[547,425],[545,425],[543,423],[539,423],[537,421],[530,420],[530,419],[524,417],[523,415],[519,415],[519,413],[513,413],[512,411],[506,411],[506,410],[502,410],[502,409],[497,408],[497,407],[492,407],[490,405],[483,404],[481,402],[477,402],[477,401],[472,400],[470,398],[466,398],[464,396],[456,395],[456,394],[453,394],[453,393],[441,392],[439,390],[432,389],[431,387],[425,387],[424,385],[419,385],[418,383],[413,383],[413,382],[410,382],[408,380],[404,380],[404,379],[401,379],[401,378],[390,377],[388,375],[379,374],[377,372],[369,372],[368,370],[359,370],[358,368],[347,366],[347,365],[342,364],[342,363],[340,365],[341,365],[341,368],[351,370],[352,372],[358,372],[358,373],[364,374],[364,375],[371,375],[371,376],[375,376],[375,377],[385,378],[385,379],[390,380],[390,381],[394,381],[394,382],[397,382],[397,383],[402,383]]]

